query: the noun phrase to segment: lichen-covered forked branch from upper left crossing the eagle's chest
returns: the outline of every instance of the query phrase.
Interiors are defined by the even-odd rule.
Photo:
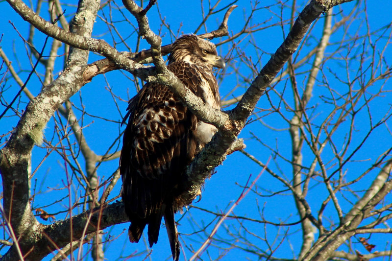
[[[146,25],[144,25],[144,27],[141,27],[141,34],[144,35],[146,40],[148,39],[147,42],[153,46],[152,57],[156,70],[148,69],[143,65],[128,59],[126,55],[118,52],[105,41],[66,32],[63,29],[50,24],[35,14],[21,0],[7,1],[27,22],[33,24],[38,30],[50,37],[76,48],[98,52],[113,61],[118,68],[129,71],[148,82],[157,82],[167,85],[176,95],[181,97],[182,102],[186,104],[199,119],[211,123],[219,129],[232,128],[232,126],[228,125],[229,117],[226,113],[221,112],[220,110],[214,110],[207,104],[204,104],[201,98],[194,95],[171,71],[166,69],[160,52],[160,38],[153,34],[151,30],[147,30],[148,26],[146,27]],[[142,11],[133,1],[124,0],[124,4],[135,14]],[[142,24],[147,23],[147,18],[144,17],[139,18],[139,21]]]

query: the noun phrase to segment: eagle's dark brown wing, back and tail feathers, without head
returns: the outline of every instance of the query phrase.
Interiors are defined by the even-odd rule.
[[[196,95],[201,78],[185,62],[168,65]],[[129,102],[128,124],[123,135],[120,169],[123,201],[131,221],[129,238],[139,241],[148,224],[149,243],[158,240],[162,216],[173,212],[173,190],[199,148],[197,118],[166,87],[147,83]],[[126,119],[123,120],[125,122]],[[168,232],[175,228],[173,214],[167,216]],[[173,257],[178,259],[177,232],[170,231]]]

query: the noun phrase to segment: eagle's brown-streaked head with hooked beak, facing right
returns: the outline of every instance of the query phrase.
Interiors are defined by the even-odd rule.
[[[207,65],[210,69],[225,67],[224,60],[218,55],[215,45],[195,34],[184,34],[174,41],[169,63],[175,61]]]

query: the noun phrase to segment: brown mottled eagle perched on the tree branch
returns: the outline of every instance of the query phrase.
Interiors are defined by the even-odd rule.
[[[220,95],[213,67],[224,60],[215,45],[194,34],[172,44],[167,68],[196,96],[220,109]],[[138,242],[148,224],[150,247],[158,241],[162,217],[178,261],[180,246],[174,221],[179,184],[195,154],[211,141],[216,127],[197,119],[165,85],[147,83],[128,103],[120,157],[122,198],[131,222],[130,242]]]

